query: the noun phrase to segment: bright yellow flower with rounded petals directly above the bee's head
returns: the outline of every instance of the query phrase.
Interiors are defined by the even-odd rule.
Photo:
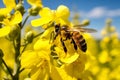
[[[69,14],[69,9],[64,5],[60,5],[57,10],[50,10],[48,7],[45,7],[40,11],[41,18],[32,20],[31,24],[33,26],[42,26],[49,22],[60,23],[61,25],[69,24]]]

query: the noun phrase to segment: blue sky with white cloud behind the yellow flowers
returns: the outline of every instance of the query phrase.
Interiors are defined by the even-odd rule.
[[[1,0],[2,1],[2,0]],[[0,1],[0,7],[3,7]],[[26,1],[26,0],[24,0]],[[100,31],[105,26],[107,18],[113,19],[112,25],[117,28],[120,36],[120,0],[42,0],[45,7],[56,9],[59,5],[66,5],[71,12],[80,14],[80,20],[89,19],[89,28],[97,29],[93,36],[100,38]],[[30,7],[26,2],[25,7]],[[71,18],[70,18],[71,19]]]

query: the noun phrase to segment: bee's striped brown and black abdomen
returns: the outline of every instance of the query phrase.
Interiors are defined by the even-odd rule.
[[[74,31],[72,34],[72,38],[75,42],[75,45],[77,45],[77,47],[79,47],[79,49],[81,49],[83,52],[86,52],[87,44],[83,36],[79,32]]]

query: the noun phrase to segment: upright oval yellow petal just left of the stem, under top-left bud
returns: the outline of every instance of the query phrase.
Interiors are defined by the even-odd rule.
[[[16,11],[11,18],[11,24],[18,24],[22,21],[22,14],[19,11]]]

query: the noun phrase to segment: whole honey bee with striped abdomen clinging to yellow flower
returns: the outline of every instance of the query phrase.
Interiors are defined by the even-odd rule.
[[[66,40],[71,40],[71,43],[74,45],[74,49],[77,50],[78,48],[82,50],[83,52],[86,52],[87,50],[87,43],[82,36],[81,32],[96,32],[95,29],[90,28],[83,28],[83,25],[74,25],[72,28],[70,28],[67,25],[60,26],[60,24],[55,25],[55,36],[54,40],[58,35],[60,35],[60,41],[63,46],[63,50],[66,53],[67,48],[64,43]]]

